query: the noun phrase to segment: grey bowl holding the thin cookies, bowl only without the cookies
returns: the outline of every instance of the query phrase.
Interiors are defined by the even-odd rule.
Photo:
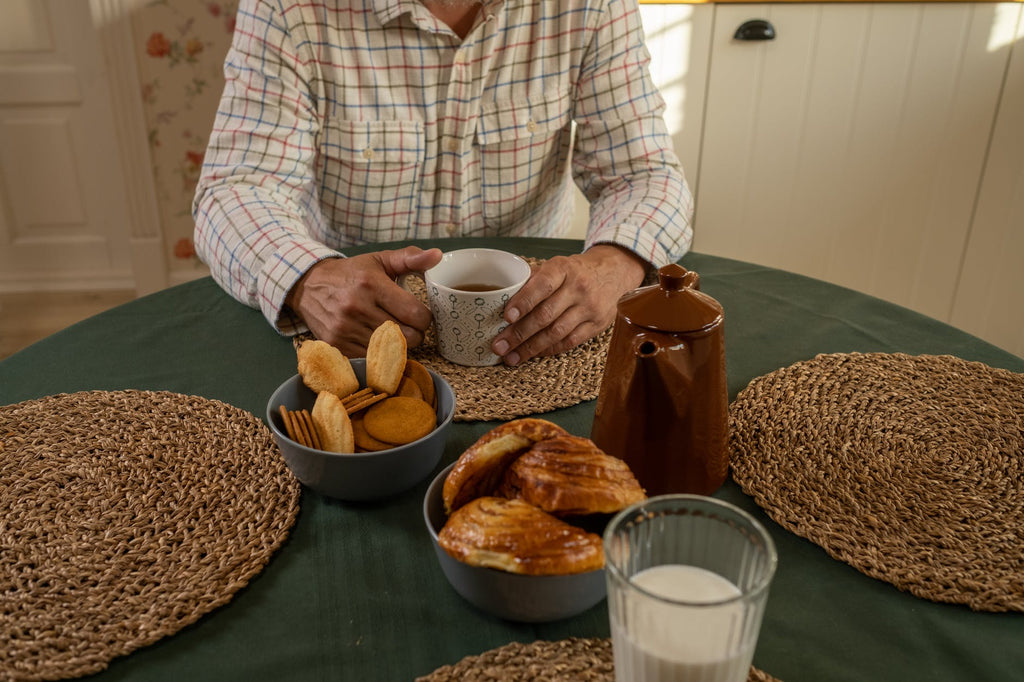
[[[359,383],[366,381],[366,359],[351,360]],[[444,452],[447,429],[455,415],[455,393],[432,370],[437,391],[437,428],[419,440],[379,453],[339,455],[300,445],[288,437],[279,409],[312,410],[316,395],[299,375],[283,383],[266,403],[266,421],[285,456],[285,462],[303,484],[331,498],[378,500],[413,487],[426,478]]]

